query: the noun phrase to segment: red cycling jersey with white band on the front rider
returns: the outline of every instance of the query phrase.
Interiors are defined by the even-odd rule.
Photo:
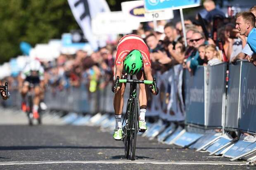
[[[116,66],[123,65],[124,59],[131,50],[140,51],[144,67],[151,66],[149,49],[144,40],[139,35],[129,34],[123,36],[123,38],[121,38],[121,40],[119,41],[116,50]]]

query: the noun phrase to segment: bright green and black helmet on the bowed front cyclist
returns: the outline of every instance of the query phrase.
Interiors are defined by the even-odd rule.
[[[134,75],[142,68],[142,55],[139,50],[132,50],[123,61],[127,74]]]

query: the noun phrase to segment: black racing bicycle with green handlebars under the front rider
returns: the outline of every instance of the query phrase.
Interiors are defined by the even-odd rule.
[[[135,160],[135,150],[136,150],[136,139],[137,132],[141,132],[139,129],[139,110],[140,105],[137,99],[137,84],[152,84],[154,90],[156,91],[156,78],[153,81],[149,80],[133,80],[133,76],[130,75],[130,80],[120,79],[119,76],[116,77],[115,88],[119,86],[119,83],[131,83],[130,84],[130,98],[128,99],[126,106],[126,114],[122,122],[123,129],[123,144],[125,157],[131,160]],[[129,157],[130,156],[130,157]]]

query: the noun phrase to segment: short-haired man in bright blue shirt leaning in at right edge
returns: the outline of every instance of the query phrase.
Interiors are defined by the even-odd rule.
[[[247,44],[254,53],[249,61],[256,66],[256,29],[255,16],[251,12],[241,12],[236,15],[236,28],[240,35],[245,35],[247,38]]]

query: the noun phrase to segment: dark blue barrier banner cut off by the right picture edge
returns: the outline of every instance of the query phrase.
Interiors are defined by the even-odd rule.
[[[242,61],[240,130],[256,134],[256,67]]]

